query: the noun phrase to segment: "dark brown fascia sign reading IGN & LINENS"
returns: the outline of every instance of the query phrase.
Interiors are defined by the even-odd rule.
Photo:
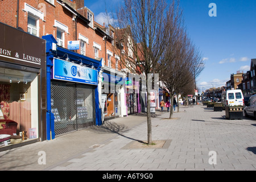
[[[0,23],[0,59],[37,68],[45,67],[46,40]]]

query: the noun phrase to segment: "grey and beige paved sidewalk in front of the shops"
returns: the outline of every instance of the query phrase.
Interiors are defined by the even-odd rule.
[[[152,140],[162,148],[130,148],[147,140],[143,114],[110,120],[91,127],[9,151],[0,152],[1,170],[256,170],[256,121],[225,119],[203,105],[181,107],[152,117]],[[39,151],[46,164],[39,165]],[[209,156],[209,152],[212,156]],[[214,155],[216,154],[216,155]],[[215,160],[216,159],[216,160]]]

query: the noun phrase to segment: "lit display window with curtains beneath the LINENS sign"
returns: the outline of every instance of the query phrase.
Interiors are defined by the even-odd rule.
[[[1,146],[38,138],[38,75],[0,68],[0,134],[14,136]]]

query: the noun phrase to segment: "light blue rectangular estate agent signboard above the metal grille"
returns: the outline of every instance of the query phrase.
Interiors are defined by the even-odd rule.
[[[98,85],[98,71],[54,58],[53,79]]]

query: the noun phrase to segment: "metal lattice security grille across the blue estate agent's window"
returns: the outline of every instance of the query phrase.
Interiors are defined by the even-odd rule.
[[[55,135],[94,125],[96,120],[94,98],[93,86],[51,81]]]

